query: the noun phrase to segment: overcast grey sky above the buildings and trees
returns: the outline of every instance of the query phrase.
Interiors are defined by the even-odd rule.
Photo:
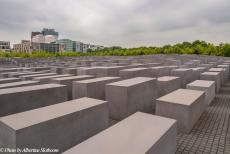
[[[0,40],[54,28],[59,38],[123,47],[230,42],[229,0],[0,0]]]

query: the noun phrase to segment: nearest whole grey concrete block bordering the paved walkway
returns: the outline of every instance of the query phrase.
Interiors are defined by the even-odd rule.
[[[178,130],[189,133],[205,108],[203,91],[178,89],[156,101],[156,115],[176,119]]]

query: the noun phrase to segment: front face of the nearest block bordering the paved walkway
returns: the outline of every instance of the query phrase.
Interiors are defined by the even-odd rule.
[[[156,115],[177,120],[178,131],[189,133],[191,130],[190,109],[185,105],[156,100]]]

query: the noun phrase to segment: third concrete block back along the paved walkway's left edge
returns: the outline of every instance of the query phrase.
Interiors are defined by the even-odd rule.
[[[216,93],[220,91],[220,72],[204,72],[200,75],[201,80],[215,81]]]

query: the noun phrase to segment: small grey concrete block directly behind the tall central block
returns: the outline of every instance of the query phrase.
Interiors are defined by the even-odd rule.
[[[120,70],[119,76],[123,79],[130,79],[134,77],[150,77],[150,69],[139,67]]]

